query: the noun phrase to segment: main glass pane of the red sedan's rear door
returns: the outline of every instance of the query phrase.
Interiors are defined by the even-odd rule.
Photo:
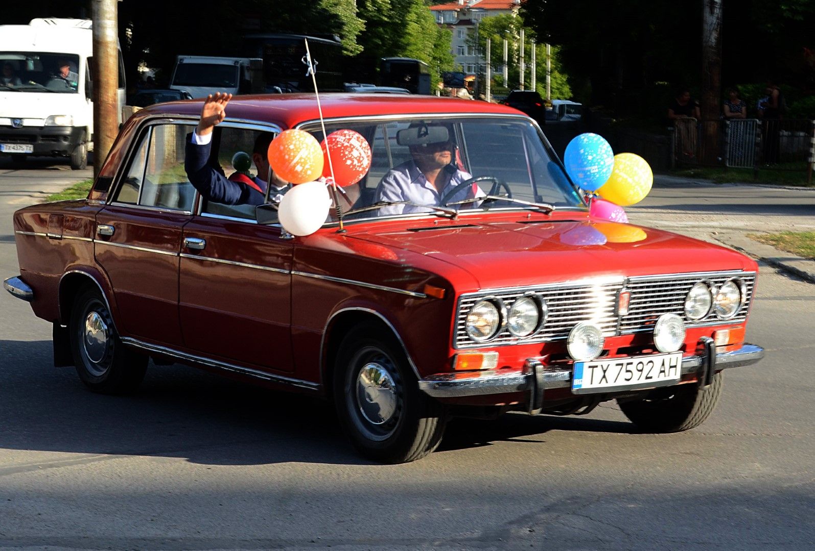
[[[192,125],[155,125],[139,205],[192,211],[196,190],[184,171],[184,148]]]

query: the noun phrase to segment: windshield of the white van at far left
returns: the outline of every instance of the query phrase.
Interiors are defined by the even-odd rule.
[[[0,91],[76,94],[79,56],[52,52],[0,51]]]

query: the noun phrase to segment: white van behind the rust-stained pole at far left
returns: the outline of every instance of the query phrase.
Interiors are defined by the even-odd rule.
[[[18,162],[29,155],[69,157],[71,168],[86,167],[94,133],[92,59],[90,20],[0,25],[0,153]],[[121,118],[121,51],[117,95]]]

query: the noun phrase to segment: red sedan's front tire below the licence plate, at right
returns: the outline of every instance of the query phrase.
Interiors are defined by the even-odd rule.
[[[701,425],[719,401],[722,374],[713,376],[710,387],[687,383],[670,391],[656,391],[645,400],[618,400],[619,409],[642,431],[663,433],[681,432]]]

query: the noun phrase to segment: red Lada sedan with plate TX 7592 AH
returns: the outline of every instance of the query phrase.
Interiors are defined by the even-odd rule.
[[[362,134],[372,166],[301,237],[269,191],[227,204],[192,185],[200,109],[138,112],[87,199],[15,213],[20,275],[5,287],[53,323],[55,365],[91,390],[133,391],[149,358],[197,365],[333,400],[361,453],[403,462],[474,412],[617,400],[643,431],[685,431],[716,405],[723,370],[764,355],[744,342],[756,262],[589,216],[540,128],[509,107],[325,96],[326,131]],[[323,138],[312,95],[235,98],[209,166],[230,176],[236,153],[284,129]],[[439,152],[442,193],[416,169]]]

